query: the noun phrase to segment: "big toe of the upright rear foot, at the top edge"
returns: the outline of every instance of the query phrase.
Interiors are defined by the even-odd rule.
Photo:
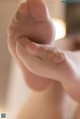
[[[42,0],[27,0],[30,14],[34,20],[45,21],[48,18],[48,10]]]

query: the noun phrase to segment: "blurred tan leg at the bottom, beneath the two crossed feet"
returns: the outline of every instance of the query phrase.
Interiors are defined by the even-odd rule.
[[[42,92],[32,92],[21,110],[17,119],[67,119],[68,104],[63,100],[64,93],[59,83]],[[65,98],[66,99],[66,98]],[[67,100],[66,100],[67,101]]]

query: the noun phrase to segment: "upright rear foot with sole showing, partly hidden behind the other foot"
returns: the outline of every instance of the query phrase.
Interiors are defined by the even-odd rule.
[[[25,67],[16,54],[16,42],[25,36],[40,44],[51,44],[54,34],[53,23],[42,0],[27,0],[22,3],[10,23],[8,30],[9,51],[19,63],[27,84],[35,90],[45,89],[51,81],[31,73]]]

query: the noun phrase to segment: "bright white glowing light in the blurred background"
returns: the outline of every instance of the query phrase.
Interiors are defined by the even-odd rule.
[[[66,36],[66,24],[63,20],[61,19],[53,19],[54,26],[56,29],[56,36],[55,39],[59,40],[61,38],[64,38]]]

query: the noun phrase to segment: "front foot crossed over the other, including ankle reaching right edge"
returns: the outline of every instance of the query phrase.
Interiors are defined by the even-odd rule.
[[[61,82],[67,93],[80,101],[80,63],[78,58],[75,58],[77,53],[37,45],[27,39],[25,45],[26,48],[22,47],[19,41],[16,45],[17,54],[24,65],[36,75]]]

